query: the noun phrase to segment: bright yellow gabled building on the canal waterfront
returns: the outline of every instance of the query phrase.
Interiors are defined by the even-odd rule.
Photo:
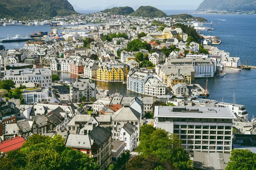
[[[100,66],[97,70],[97,80],[105,82],[124,82],[128,74],[125,65]]]

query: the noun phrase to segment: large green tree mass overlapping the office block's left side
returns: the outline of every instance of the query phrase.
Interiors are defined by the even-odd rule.
[[[169,134],[166,130],[149,127],[141,127],[140,144],[137,152],[147,158],[154,155],[161,162],[167,161],[178,170],[191,170],[192,161],[186,150],[181,146],[181,140],[177,134]],[[149,130],[148,130],[149,129]]]

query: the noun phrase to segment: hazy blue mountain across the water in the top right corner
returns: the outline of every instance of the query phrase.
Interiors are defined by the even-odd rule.
[[[204,0],[197,11],[204,10],[256,10],[256,0]]]

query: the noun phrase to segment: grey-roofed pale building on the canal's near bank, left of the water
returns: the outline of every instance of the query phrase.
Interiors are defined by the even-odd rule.
[[[95,84],[90,79],[78,79],[76,82],[70,83],[70,101],[79,102],[85,97],[85,101],[90,101],[92,97],[96,97]]]

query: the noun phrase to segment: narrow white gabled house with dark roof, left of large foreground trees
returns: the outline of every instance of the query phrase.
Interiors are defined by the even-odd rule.
[[[137,127],[125,123],[119,133],[119,141],[125,141],[125,150],[134,150],[137,147]]]

